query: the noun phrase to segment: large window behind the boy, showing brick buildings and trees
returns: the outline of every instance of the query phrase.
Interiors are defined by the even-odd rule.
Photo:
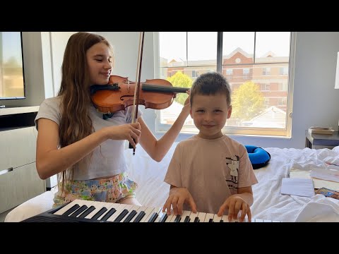
[[[174,86],[191,87],[198,75],[218,71],[232,87],[225,133],[290,137],[294,40],[293,32],[155,32],[155,73]],[[185,96],[157,111],[156,131],[169,129]],[[182,132],[198,132],[190,116]]]

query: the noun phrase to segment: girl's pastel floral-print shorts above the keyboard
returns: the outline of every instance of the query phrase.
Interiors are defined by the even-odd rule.
[[[121,202],[125,198],[135,198],[138,184],[129,180],[126,173],[121,173],[107,179],[73,180],[65,184],[64,192],[61,190],[54,195],[53,207],[76,199]]]

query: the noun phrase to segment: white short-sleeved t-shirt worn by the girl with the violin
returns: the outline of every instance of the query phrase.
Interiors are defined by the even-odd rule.
[[[50,119],[59,125],[61,121],[60,97],[45,99],[40,105],[39,112],[35,118],[35,126],[38,130],[37,120]],[[102,119],[102,113],[90,105],[90,118],[95,131],[107,126],[118,126],[132,121],[133,106],[126,110],[117,111],[112,118]],[[138,109],[138,117],[142,115]],[[38,130],[39,131],[39,130]],[[74,171],[74,180],[88,180],[105,176],[114,176],[127,171],[127,164],[124,157],[125,140],[106,140],[93,150],[89,164],[81,164]]]

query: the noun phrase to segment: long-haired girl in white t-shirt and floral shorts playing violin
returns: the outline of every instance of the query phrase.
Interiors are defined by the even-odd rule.
[[[100,35],[71,35],[61,66],[57,97],[45,99],[35,118],[37,173],[41,179],[58,174],[54,207],[75,199],[140,205],[135,198],[137,183],[127,174],[124,143],[138,143],[157,162],[165,157],[189,116],[186,99],[177,121],[159,140],[133,106],[102,117],[90,98],[91,85],[106,85],[112,72],[113,51]]]

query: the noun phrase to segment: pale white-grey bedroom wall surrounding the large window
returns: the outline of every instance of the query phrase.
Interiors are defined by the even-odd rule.
[[[39,105],[44,97],[49,97],[53,83],[54,91],[59,89],[57,75],[60,73],[64,47],[73,32],[65,34],[47,32],[50,34],[49,40],[44,33],[23,32],[25,82],[28,87],[28,99],[25,102],[27,105]],[[113,74],[135,80],[138,32],[97,33],[104,35],[114,44],[116,59]],[[152,79],[154,76],[152,32],[145,32],[144,43],[142,80]],[[51,48],[52,53],[48,52],[48,47]],[[337,52],[339,52],[339,32],[297,32],[292,138],[232,137],[244,145],[303,148],[304,131],[309,126],[325,125],[338,129],[339,90],[334,89]],[[154,132],[154,110],[143,108],[141,110],[143,118]],[[157,138],[161,136],[155,135]],[[178,140],[189,136],[191,135],[180,134]]]

